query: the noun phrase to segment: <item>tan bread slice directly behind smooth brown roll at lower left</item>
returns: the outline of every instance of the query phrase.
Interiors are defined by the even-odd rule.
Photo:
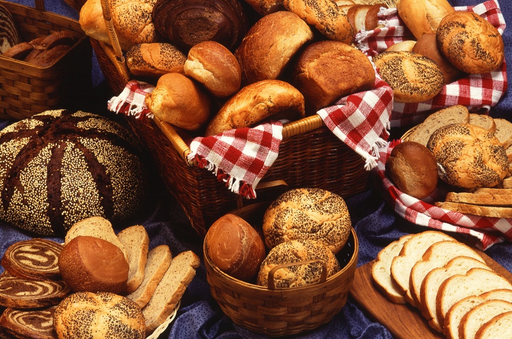
[[[112,228],[112,223],[110,223],[109,220],[95,216],[78,221],[66,233],[64,244],[67,244],[71,239],[80,235],[88,235],[113,243],[121,249],[126,261],[129,261],[130,258],[128,257],[126,248],[124,248],[123,244],[117,238],[117,235]]]

